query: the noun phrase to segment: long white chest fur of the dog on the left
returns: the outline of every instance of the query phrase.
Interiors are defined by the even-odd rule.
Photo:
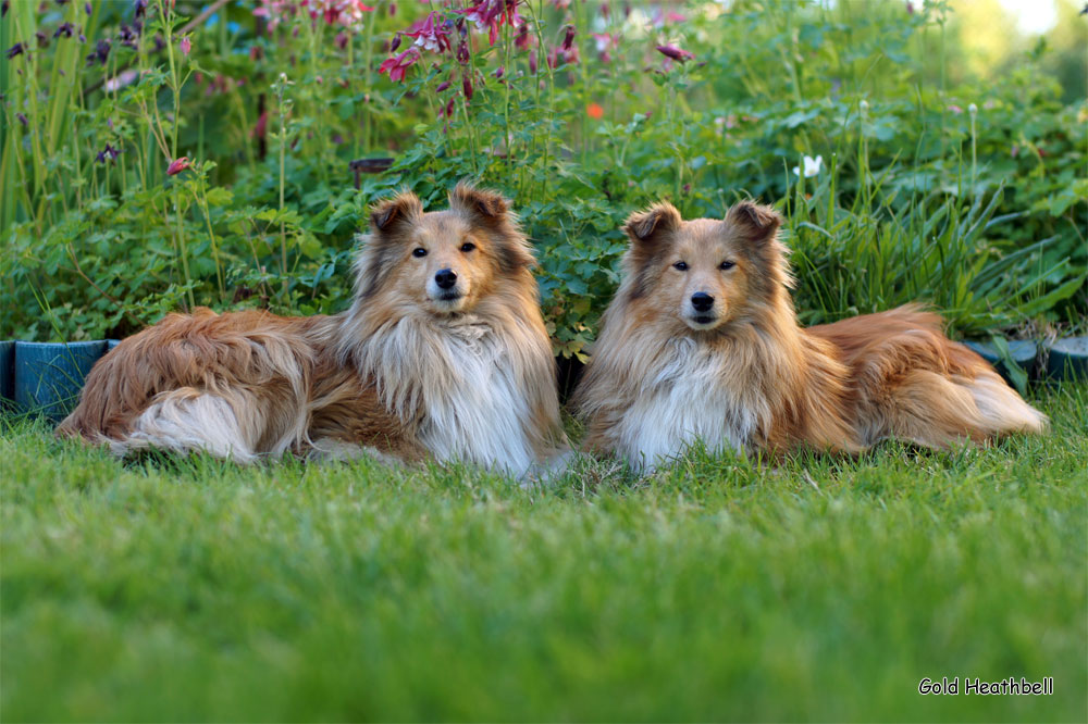
[[[524,433],[530,410],[503,340],[482,325],[452,325],[441,350],[445,379],[424,384],[420,438],[440,461],[460,460],[523,475],[534,462]]]

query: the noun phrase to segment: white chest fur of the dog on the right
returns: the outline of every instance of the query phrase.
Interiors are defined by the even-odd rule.
[[[719,357],[678,339],[613,430],[617,451],[635,470],[653,470],[702,440],[710,451],[746,449],[767,416],[754,390],[738,389]]]

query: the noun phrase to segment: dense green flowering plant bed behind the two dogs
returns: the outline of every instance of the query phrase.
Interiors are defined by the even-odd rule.
[[[663,197],[777,202],[809,322],[922,300],[964,334],[1085,323],[1088,104],[1041,52],[948,87],[942,3],[376,4],[12,3],[0,336],[339,311],[368,205],[462,177],[520,211],[564,355]]]

